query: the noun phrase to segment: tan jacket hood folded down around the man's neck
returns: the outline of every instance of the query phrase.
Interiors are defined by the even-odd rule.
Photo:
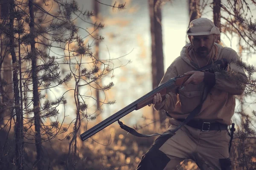
[[[187,51],[187,48],[188,50],[190,50],[189,46],[191,45],[191,43],[187,43],[183,48],[182,50],[180,51],[180,57],[188,64],[190,65],[192,68],[194,69],[198,69],[198,66],[195,62],[193,62],[190,57],[188,56],[188,51]],[[218,60],[219,59],[219,55],[220,55],[220,52],[221,52],[221,48],[222,46],[219,45],[218,43],[214,43],[215,47],[217,47],[217,53],[215,54],[215,60]]]

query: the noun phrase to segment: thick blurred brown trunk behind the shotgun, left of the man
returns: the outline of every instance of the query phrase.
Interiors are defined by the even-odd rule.
[[[152,88],[156,88],[164,75],[163,65],[163,40],[162,40],[162,26],[161,26],[161,9],[157,7],[157,11],[154,7],[157,0],[149,0],[149,14],[151,25],[151,58],[152,58]],[[158,19],[157,19],[158,18]],[[158,21],[157,21],[158,20]],[[159,115],[160,125],[163,126],[163,122],[166,118],[166,114],[163,111],[155,111],[153,109],[154,122],[157,121],[156,115]],[[156,124],[154,124],[156,125]]]

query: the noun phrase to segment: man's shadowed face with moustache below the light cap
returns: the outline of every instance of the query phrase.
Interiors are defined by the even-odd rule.
[[[189,36],[191,44],[200,57],[206,57],[212,50],[215,41],[215,35],[196,35]]]

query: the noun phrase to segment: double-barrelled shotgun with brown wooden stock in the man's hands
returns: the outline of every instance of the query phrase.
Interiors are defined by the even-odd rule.
[[[196,71],[209,71],[211,73],[214,73],[215,71],[218,71],[218,69],[225,69],[227,67],[227,60],[221,59],[213,62],[212,64],[209,64],[203,68],[199,68]],[[140,97],[136,101],[132,102],[130,105],[126,106],[125,108],[122,108],[120,111],[114,113],[112,116],[108,117],[107,119],[103,120],[102,122],[98,123],[97,125],[93,126],[89,130],[85,131],[80,135],[81,140],[84,141],[94,134],[98,133],[100,130],[103,130],[105,127],[108,127],[113,122],[119,121],[122,117],[127,115],[128,113],[131,113],[134,110],[139,110],[143,108],[144,106],[151,104],[153,101],[154,95],[157,93],[160,93],[161,96],[164,98],[165,95],[171,91],[174,91],[176,88],[179,88],[183,85],[184,82],[186,82],[187,79],[189,79],[191,75],[182,75],[177,76],[166,83],[158,86],[153,91],[148,92],[144,96]]]

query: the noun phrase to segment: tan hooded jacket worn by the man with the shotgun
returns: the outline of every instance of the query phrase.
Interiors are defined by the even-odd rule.
[[[177,57],[169,68],[167,68],[160,85],[173,77],[198,69],[196,68],[197,64],[195,64],[188,55],[190,50],[190,44],[183,47],[180,52],[180,57]],[[222,47],[215,43],[211,59],[219,60],[225,58],[230,63],[231,59],[238,59],[238,57],[238,54],[232,48]],[[247,80],[244,71],[238,68],[234,63],[230,63],[229,68],[236,72],[236,76],[239,77],[239,79]],[[206,81],[206,79],[204,80]],[[199,85],[188,84],[177,93],[170,92],[166,94],[165,99],[159,105],[155,105],[154,108],[167,111],[169,115],[175,119],[184,119],[200,104],[205,85],[207,85],[207,82],[202,82]],[[206,119],[231,125],[231,117],[234,114],[236,106],[234,95],[241,95],[243,92],[244,88],[238,88],[235,81],[221,77],[218,72],[215,72],[215,85],[207,95],[201,111],[195,119]]]

